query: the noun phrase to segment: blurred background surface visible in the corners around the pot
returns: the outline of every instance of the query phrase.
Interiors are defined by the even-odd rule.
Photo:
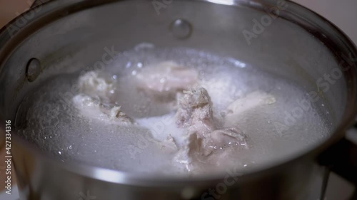
[[[316,11],[335,23],[357,44],[357,0],[294,0],[309,9]],[[29,9],[34,0],[0,0],[0,27],[3,27],[22,12]],[[0,134],[0,148],[4,147],[4,137]],[[0,157],[4,157],[0,149]],[[4,180],[4,162],[0,164],[0,180]],[[1,168],[2,167],[2,168]],[[0,191],[4,181],[0,182]],[[328,184],[328,200],[347,200],[353,193],[353,186],[332,174]],[[15,194],[16,195],[16,194]],[[0,200],[17,199],[16,196],[1,194]]]

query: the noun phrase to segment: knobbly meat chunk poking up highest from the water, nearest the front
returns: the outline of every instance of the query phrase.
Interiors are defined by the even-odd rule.
[[[212,102],[204,88],[183,91],[176,113],[178,127],[186,128],[186,141],[176,161],[190,171],[200,164],[219,164],[222,155],[233,154],[233,149],[248,149],[248,137],[237,127],[217,130],[213,121]],[[224,149],[224,150],[223,150]],[[225,157],[226,158],[226,157]]]

